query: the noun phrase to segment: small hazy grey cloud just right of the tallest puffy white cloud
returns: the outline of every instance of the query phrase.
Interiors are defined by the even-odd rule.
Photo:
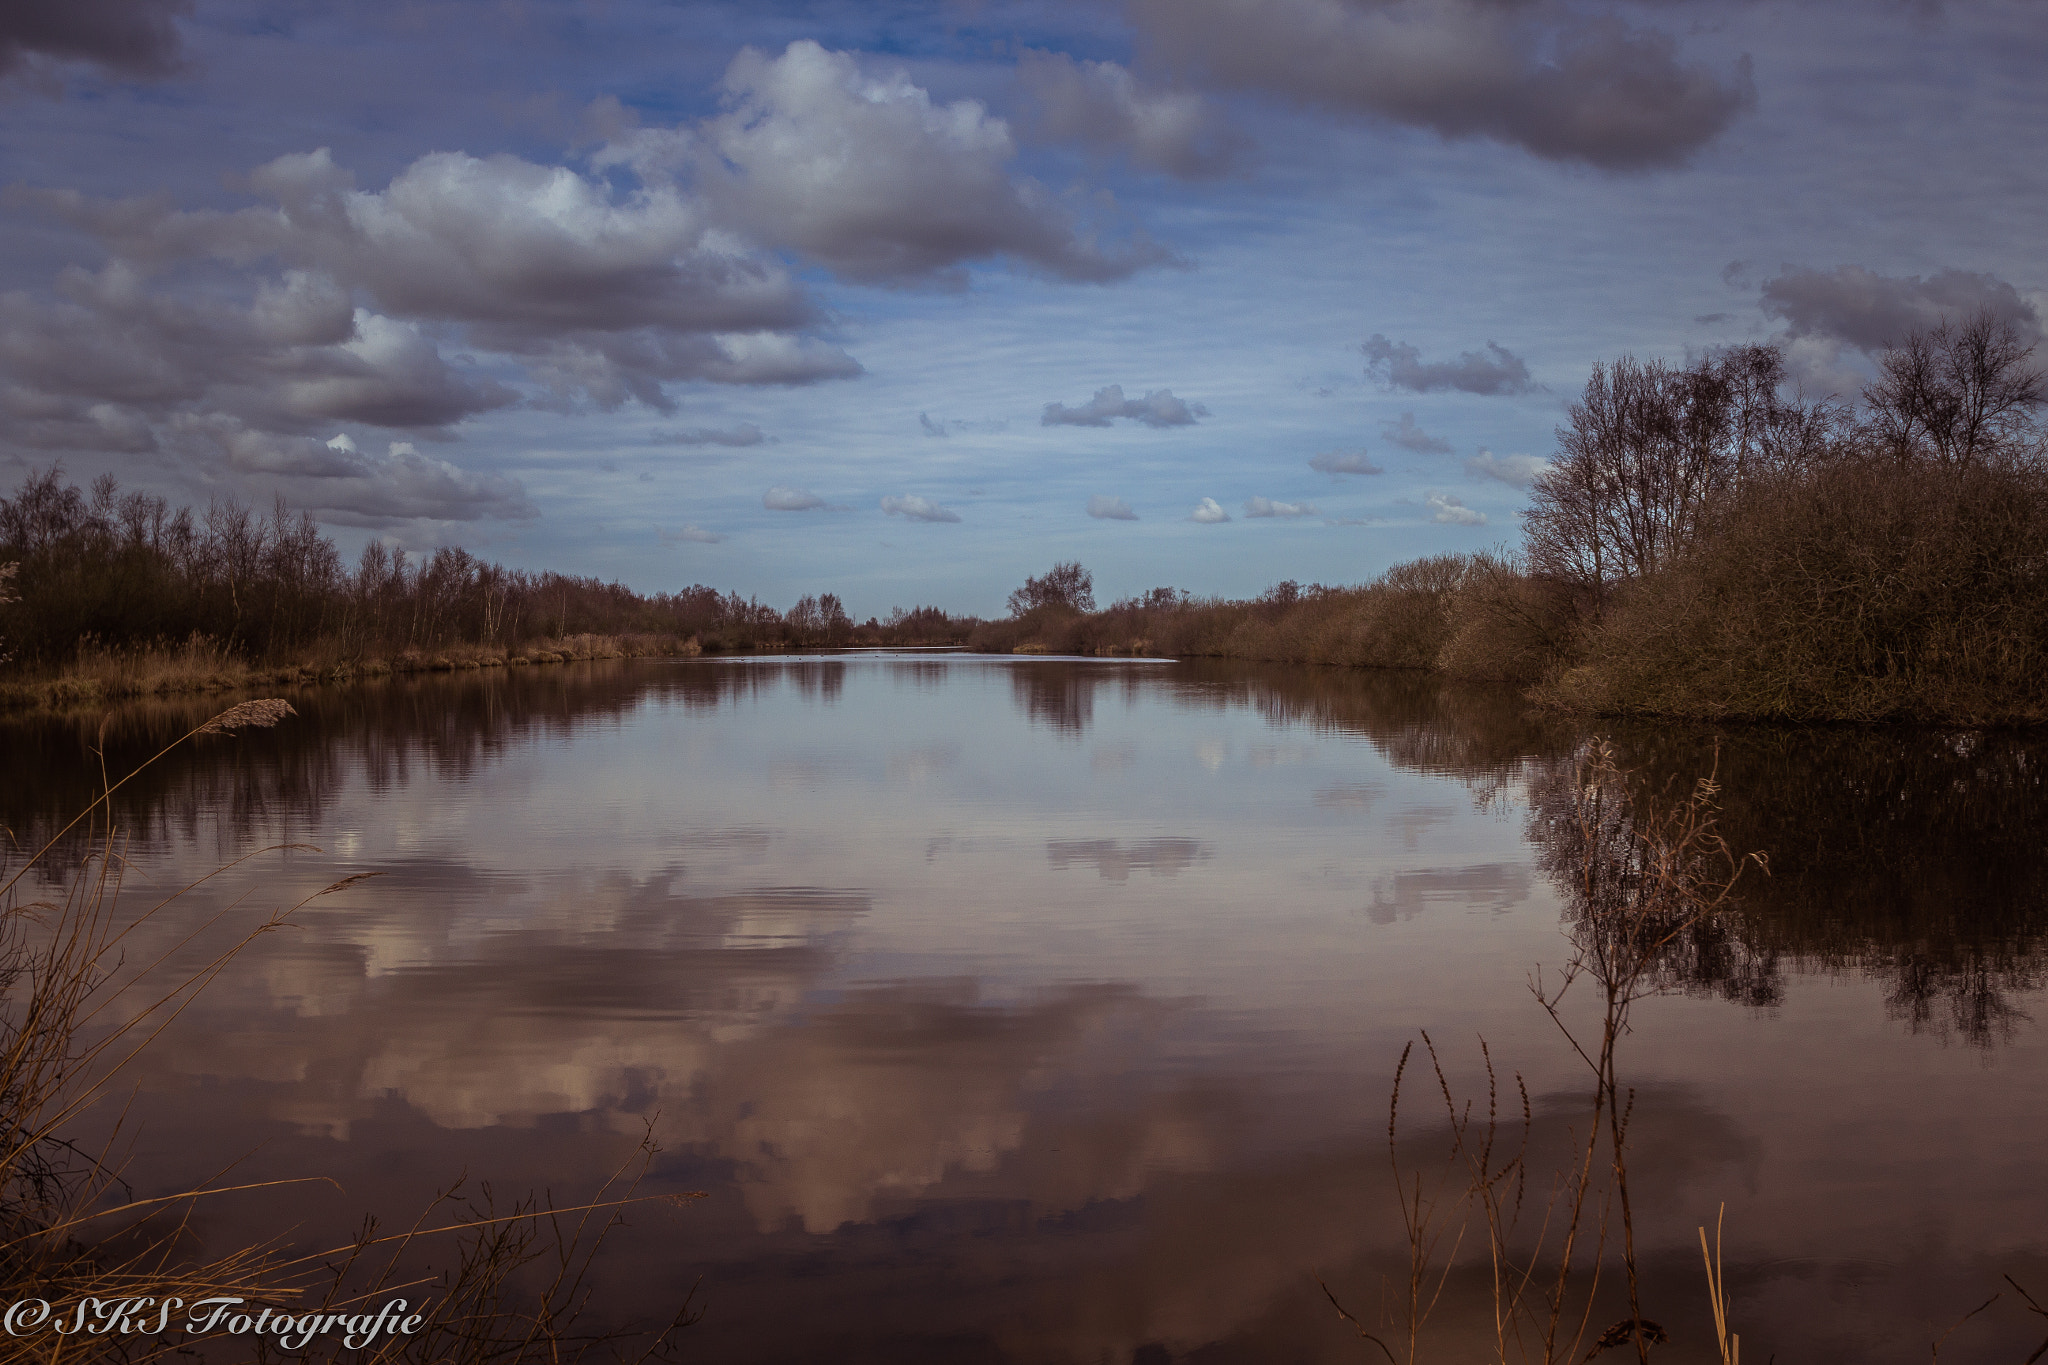
[[[1184,90],[1147,90],[1114,61],[1075,61],[1026,51],[1018,80],[1038,100],[1036,133],[1098,149],[1182,178],[1219,176],[1243,149],[1206,100]]]

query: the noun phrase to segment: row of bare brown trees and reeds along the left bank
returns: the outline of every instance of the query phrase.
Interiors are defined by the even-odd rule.
[[[938,608],[856,624],[829,591],[788,610],[705,585],[637,593],[506,569],[459,546],[412,555],[373,540],[350,567],[283,499],[268,514],[231,497],[172,510],[111,475],[82,489],[61,467],[31,473],[0,499],[0,651],[29,673],[61,669],[82,647],[193,636],[285,663],[516,651],[567,636],[694,639],[702,649],[924,643],[965,639],[971,626]]]

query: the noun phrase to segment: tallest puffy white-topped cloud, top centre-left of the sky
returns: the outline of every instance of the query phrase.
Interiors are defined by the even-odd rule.
[[[1008,256],[1063,280],[1106,282],[1169,254],[1141,233],[1110,246],[1038,182],[1012,176],[1010,125],[977,100],[936,104],[901,72],[803,39],[743,49],[725,113],[694,131],[688,164],[721,219],[868,282],[963,282]]]

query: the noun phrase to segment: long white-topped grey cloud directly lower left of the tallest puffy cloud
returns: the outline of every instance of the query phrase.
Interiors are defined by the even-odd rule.
[[[180,211],[162,201],[18,196],[94,233],[123,262],[281,260],[322,291],[383,313],[467,323],[467,340],[526,362],[543,405],[672,409],[664,385],[801,385],[860,364],[795,332],[815,309],[791,274],[721,231],[674,186],[614,194],[563,166],[436,151],[383,190],[356,190],[326,147],[250,172],[274,207]],[[268,284],[264,287],[268,289]]]

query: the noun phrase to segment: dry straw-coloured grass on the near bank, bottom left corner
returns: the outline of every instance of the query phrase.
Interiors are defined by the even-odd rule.
[[[291,714],[281,698],[242,702],[193,726],[150,763],[182,743],[268,729]],[[279,909],[199,970],[170,972],[168,962],[193,948],[213,921],[172,935],[160,950],[143,950],[141,931],[195,886],[276,849],[258,849],[141,913],[127,913],[121,894],[127,864],[109,812],[111,796],[133,776],[106,782],[92,806],[0,882],[0,1306],[41,1300],[76,1310],[88,1302],[176,1297],[195,1304],[236,1295],[248,1300],[250,1312],[272,1308],[303,1316],[354,1314],[375,1308],[373,1300],[403,1295],[416,1310],[430,1300],[428,1322],[416,1334],[387,1336],[371,1349],[350,1351],[342,1332],[311,1336],[289,1353],[274,1340],[252,1338],[231,1338],[223,1349],[238,1357],[254,1353],[252,1359],[475,1365],[592,1355],[645,1359],[664,1351],[688,1320],[686,1312],[643,1338],[592,1332],[578,1322],[592,1295],[592,1259],[604,1234],[629,1205],[645,1203],[637,1181],[655,1150],[647,1140],[637,1160],[614,1171],[594,1199],[573,1207],[528,1197],[502,1209],[489,1187],[469,1197],[467,1185],[457,1181],[412,1228],[385,1234],[367,1222],[350,1242],[291,1254],[283,1242],[199,1252],[193,1214],[209,1197],[299,1181],[215,1181],[137,1199],[111,1156],[115,1136],[98,1150],[82,1150],[66,1136],[244,948],[289,923],[303,905],[362,880],[344,878]],[[76,847],[84,853],[57,878],[59,890],[27,898],[29,874],[47,872],[49,860]],[[459,1209],[453,1218],[451,1205]],[[436,1277],[412,1273],[422,1244],[438,1238],[461,1238],[455,1267]],[[154,1310],[143,1320],[150,1316]],[[213,1345],[223,1342],[215,1338]],[[209,1349],[207,1340],[197,1347],[201,1355]],[[176,1330],[0,1336],[4,1363],[150,1361],[193,1349],[195,1342]]]

